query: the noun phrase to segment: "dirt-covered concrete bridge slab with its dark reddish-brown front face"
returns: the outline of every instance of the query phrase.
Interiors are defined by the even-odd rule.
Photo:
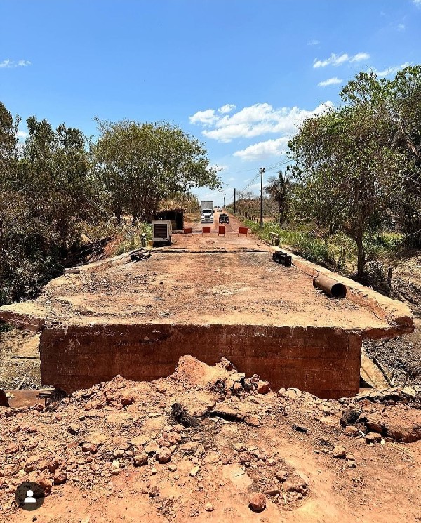
[[[227,357],[272,388],[296,387],[324,398],[359,392],[363,338],[413,331],[406,305],[298,256],[272,261],[255,237],[238,236],[230,217],[218,236],[174,234],[149,260],[128,255],[81,267],[46,285],[32,302],[0,307],[4,321],[41,331],[41,382],[66,392],[121,374],[154,380],[182,355],[207,364]],[[312,275],[347,285],[335,300]]]

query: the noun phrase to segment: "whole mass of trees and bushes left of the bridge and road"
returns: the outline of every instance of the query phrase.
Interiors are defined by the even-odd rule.
[[[32,298],[62,274],[81,232],[95,239],[123,237],[119,252],[151,238],[149,220],[159,205],[178,201],[196,208],[190,190],[220,187],[206,150],[170,124],[98,121],[96,144],[76,128],[53,129],[27,119],[18,144],[19,118],[0,103],[0,305]],[[114,213],[132,213],[135,226],[117,227]]]

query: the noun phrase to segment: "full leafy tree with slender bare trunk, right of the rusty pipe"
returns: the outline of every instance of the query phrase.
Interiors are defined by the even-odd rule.
[[[325,226],[333,221],[354,239],[359,277],[364,233],[382,224],[385,180],[399,168],[399,155],[377,139],[379,126],[370,107],[342,107],[307,119],[290,142],[307,217]]]

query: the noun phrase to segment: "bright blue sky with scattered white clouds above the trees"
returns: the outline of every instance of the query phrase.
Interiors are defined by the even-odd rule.
[[[94,136],[95,116],[171,121],[206,143],[226,201],[356,73],[421,63],[421,0],[0,0],[0,20],[8,110]]]

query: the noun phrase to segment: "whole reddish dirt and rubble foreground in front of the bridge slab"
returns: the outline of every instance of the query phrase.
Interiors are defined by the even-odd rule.
[[[0,521],[22,520],[14,494],[28,480],[48,494],[43,523],[383,522],[391,510],[415,522],[420,442],[397,444],[381,424],[367,439],[375,414],[385,427],[416,420],[408,392],[274,393],[227,360],[184,357],[155,382],[116,376],[49,406],[0,408]]]

